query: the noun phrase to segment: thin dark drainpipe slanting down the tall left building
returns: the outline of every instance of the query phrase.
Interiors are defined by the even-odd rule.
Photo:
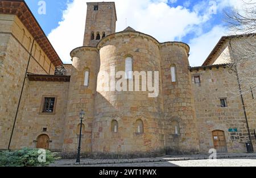
[[[42,36],[41,38],[44,38],[44,36]],[[34,39],[33,42],[32,42],[32,47],[30,49],[30,56],[28,57],[28,62],[27,62],[27,68],[26,68],[26,72],[24,74],[24,79],[23,79],[23,84],[22,84],[22,90],[20,92],[20,96],[19,96],[19,102],[18,102],[18,107],[16,109],[16,113],[15,113],[15,118],[14,118],[14,123],[13,123],[13,129],[11,130],[11,136],[10,136],[10,140],[9,140],[9,144],[8,144],[8,148],[7,150],[10,151],[10,146],[11,146],[11,139],[13,138],[13,133],[14,133],[14,128],[15,128],[15,124],[16,124],[16,119],[17,119],[17,116],[18,116],[18,111],[19,111],[19,106],[20,106],[20,101],[22,99],[22,94],[23,94],[23,90],[24,90],[24,85],[25,85],[25,81],[26,81],[26,77],[27,77],[27,71],[28,71],[28,67],[30,65],[30,59],[31,59],[31,56],[32,56],[32,49],[34,47],[34,43],[35,43],[35,40],[38,40],[40,38],[37,38],[37,39]]]

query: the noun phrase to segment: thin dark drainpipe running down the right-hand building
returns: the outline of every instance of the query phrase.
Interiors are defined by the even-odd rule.
[[[229,40],[229,45],[230,45],[230,49],[231,49],[231,57],[234,59],[233,49],[232,49],[232,45],[231,45],[231,39]],[[242,105],[243,105],[243,113],[245,114],[245,119],[246,119],[246,125],[247,125],[247,131],[248,131],[248,134],[249,134],[250,144],[251,144],[251,148],[254,152],[253,142],[251,141],[251,133],[250,133],[249,122],[248,122],[248,119],[247,119],[247,114],[246,114],[246,109],[245,109],[245,102],[243,100],[241,82],[240,82],[240,78],[239,78],[238,71],[237,71],[237,65],[235,65],[235,71],[236,71],[237,82],[238,82],[238,86],[239,86],[239,93],[240,93],[241,100],[242,100]]]

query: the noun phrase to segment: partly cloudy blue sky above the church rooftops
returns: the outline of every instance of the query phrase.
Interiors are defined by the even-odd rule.
[[[87,0],[45,0],[46,14],[38,13],[39,0],[25,0],[64,63],[69,52],[82,45]],[[93,2],[97,2],[92,0]],[[154,36],[159,42],[182,41],[191,46],[191,66],[201,65],[223,35],[228,35],[223,11],[239,7],[235,0],[113,0],[117,30],[127,26]],[[101,2],[101,1],[98,1]],[[216,12],[216,13],[215,13]]]

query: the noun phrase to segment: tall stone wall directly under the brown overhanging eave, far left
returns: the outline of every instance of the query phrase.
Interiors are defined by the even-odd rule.
[[[0,133],[5,135],[0,138],[0,149],[6,149],[9,143],[32,40],[17,16],[0,14]],[[40,47],[32,55],[28,72],[54,72],[55,67]]]

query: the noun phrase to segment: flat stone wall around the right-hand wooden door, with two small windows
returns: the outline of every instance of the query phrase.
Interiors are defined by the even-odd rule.
[[[222,130],[228,152],[246,152],[249,138],[236,76],[230,76],[228,69],[222,67],[194,70],[191,74],[200,151],[214,148],[212,131]],[[200,76],[200,84],[195,84],[194,76]],[[221,98],[226,98],[228,107],[221,107]],[[238,131],[229,132],[229,129]]]

